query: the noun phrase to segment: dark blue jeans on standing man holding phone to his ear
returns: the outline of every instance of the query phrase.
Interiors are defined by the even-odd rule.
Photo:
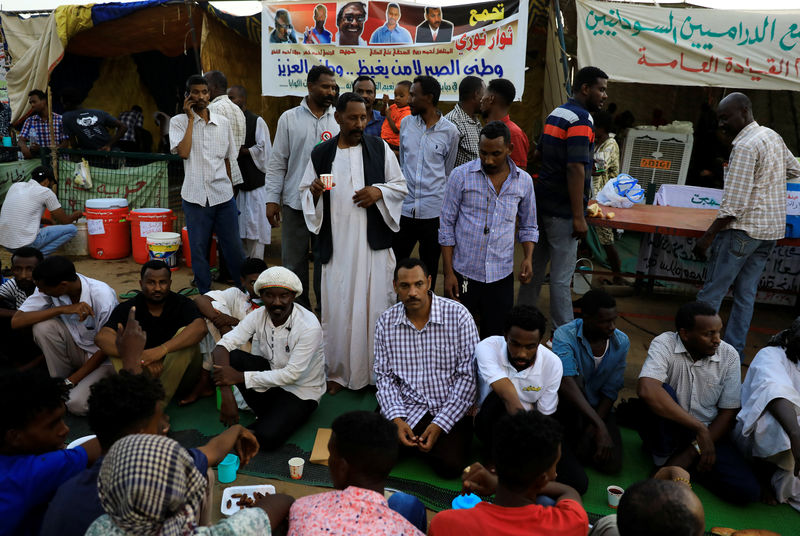
[[[217,243],[228,265],[234,281],[238,281],[244,262],[242,239],[239,238],[239,211],[236,201],[207,206],[182,201],[189,232],[189,248],[192,251],[192,271],[197,290],[205,294],[211,290],[211,268],[208,265],[208,248],[212,234],[217,234]]]

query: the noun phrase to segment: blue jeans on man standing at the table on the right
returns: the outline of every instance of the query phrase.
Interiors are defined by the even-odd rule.
[[[739,229],[726,229],[711,244],[708,275],[697,300],[719,311],[722,299],[733,285],[733,307],[725,328],[724,340],[744,357],[747,331],[753,318],[758,282],[767,264],[775,240],[751,238]]]

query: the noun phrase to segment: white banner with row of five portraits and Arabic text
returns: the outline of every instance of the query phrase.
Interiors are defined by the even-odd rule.
[[[341,92],[370,76],[378,98],[419,75],[436,77],[450,101],[468,75],[511,80],[517,99],[525,86],[527,2],[264,2],[261,20],[264,95],[305,96],[315,65],[334,70]]]

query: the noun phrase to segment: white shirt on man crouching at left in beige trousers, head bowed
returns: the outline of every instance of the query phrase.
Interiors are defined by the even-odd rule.
[[[107,284],[97,279],[91,279],[85,275],[78,274],[81,281],[80,301],[89,304],[94,311],[94,316],[87,316],[83,322],[78,321],[78,315],[60,315],[61,321],[67,326],[72,339],[79,348],[93,354],[98,348],[94,343],[97,332],[108,322],[111,311],[119,304],[117,293]],[[64,294],[56,298],[43,294],[37,288],[31,296],[25,300],[19,310],[24,312],[45,311],[53,307],[62,305],[72,305],[72,300]]]

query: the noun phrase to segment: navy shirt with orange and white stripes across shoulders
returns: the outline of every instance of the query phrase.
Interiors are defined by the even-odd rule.
[[[545,121],[539,151],[542,153],[542,168],[536,182],[539,213],[572,218],[567,164],[580,163],[585,167],[584,207],[592,188],[594,122],[586,108],[570,99],[553,110]]]

